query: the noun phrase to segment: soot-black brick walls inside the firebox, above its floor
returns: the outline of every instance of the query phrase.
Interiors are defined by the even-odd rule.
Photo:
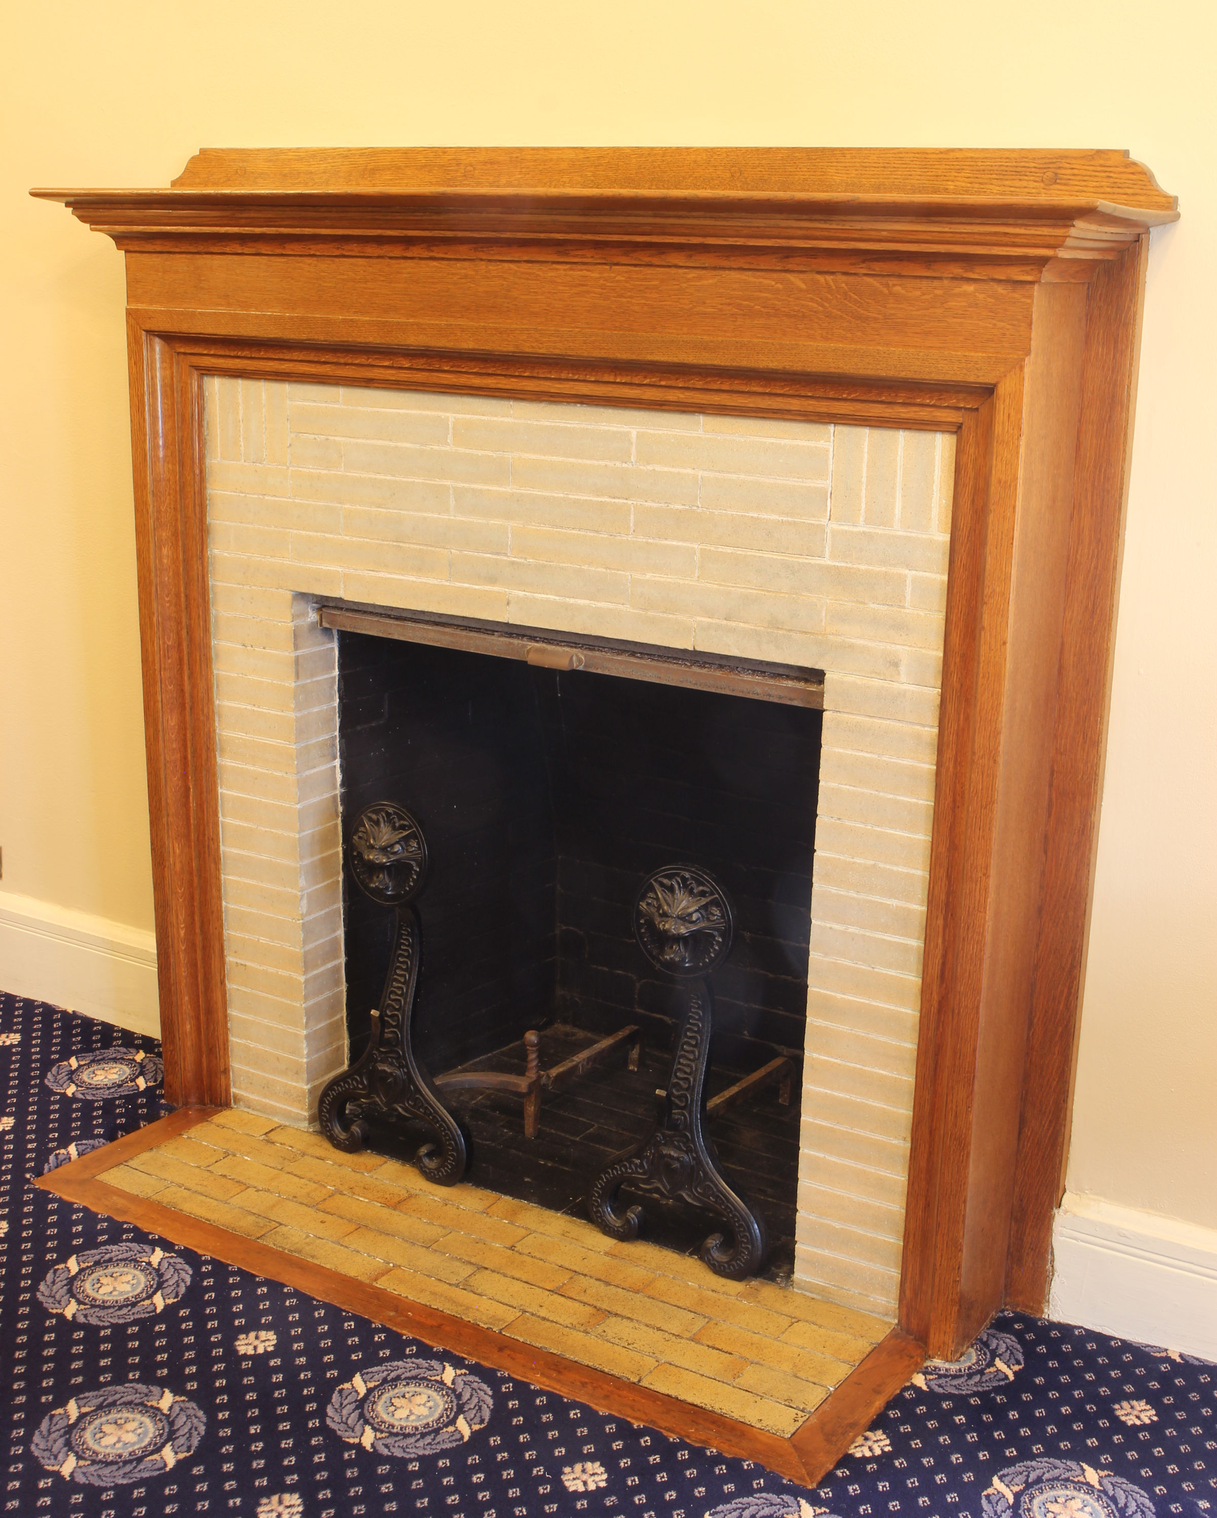
[[[341,812],[395,800],[429,874],[414,1047],[432,1075],[572,1025],[669,1050],[671,984],[637,949],[639,882],[713,871],[737,921],[713,976],[715,1067],[801,1058],[821,713],[463,650],[338,636]],[[393,920],[343,900],[352,1058]]]

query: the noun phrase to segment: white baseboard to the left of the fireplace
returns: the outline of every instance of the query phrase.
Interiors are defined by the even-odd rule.
[[[161,1037],[153,934],[12,891],[0,891],[0,991]]]

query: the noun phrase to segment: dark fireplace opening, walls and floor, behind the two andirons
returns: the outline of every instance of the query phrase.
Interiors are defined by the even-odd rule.
[[[687,994],[640,947],[639,891],[653,871],[692,867],[733,917],[707,982],[704,1125],[727,1184],[765,1219],[763,1274],[788,1278],[819,742],[812,706],[666,683],[654,668],[630,679],[340,631],[352,1063],[398,929],[352,880],[351,835],[387,802],[425,838],[413,1049],[464,1132],[466,1179],[586,1217],[593,1179],[660,1120]],[[476,1084],[530,1069],[560,1072],[537,1093],[531,1135],[517,1091]],[[367,1142],[408,1158],[423,1138],[395,1120]],[[645,1217],[651,1242],[701,1249],[703,1211],[651,1196]]]

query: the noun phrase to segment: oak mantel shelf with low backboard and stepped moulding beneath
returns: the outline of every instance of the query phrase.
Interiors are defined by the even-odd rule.
[[[968,257],[1009,278],[1111,258],[1178,217],[1120,152],[920,149],[208,149],[168,190],[35,190],[121,247],[513,241],[713,263]]]

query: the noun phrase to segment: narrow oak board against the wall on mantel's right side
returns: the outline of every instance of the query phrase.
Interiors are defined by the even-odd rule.
[[[1006,1299],[1042,1313],[1068,1157],[1149,238],[1088,290]]]

